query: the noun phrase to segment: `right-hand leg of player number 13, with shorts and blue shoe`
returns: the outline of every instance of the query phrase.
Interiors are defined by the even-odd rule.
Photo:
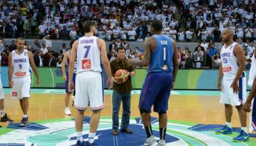
[[[236,142],[249,141],[249,134],[246,127],[247,113],[242,109],[243,103],[246,101],[246,77],[239,78],[239,92],[233,94],[232,102],[238,110],[238,115],[241,123],[241,132],[239,136],[234,137],[233,140]]]

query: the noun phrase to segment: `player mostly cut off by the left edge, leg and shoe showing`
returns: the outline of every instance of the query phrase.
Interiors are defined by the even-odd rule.
[[[0,38],[0,45],[2,43],[2,38]],[[1,62],[1,55],[0,55],[0,62]],[[1,66],[0,66],[0,122],[13,122],[12,119],[10,119],[6,111],[4,110],[4,88],[2,88],[2,81],[1,81]],[[1,127],[1,125],[0,125]]]

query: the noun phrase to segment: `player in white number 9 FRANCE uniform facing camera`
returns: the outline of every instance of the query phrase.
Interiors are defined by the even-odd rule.
[[[20,106],[23,111],[23,117],[20,125],[26,127],[28,125],[28,106],[30,97],[29,91],[31,86],[31,70],[37,77],[37,85],[40,85],[39,74],[34,63],[33,54],[24,49],[23,38],[17,38],[17,49],[13,50],[9,55],[9,87],[11,89],[10,96],[13,99],[20,99]]]

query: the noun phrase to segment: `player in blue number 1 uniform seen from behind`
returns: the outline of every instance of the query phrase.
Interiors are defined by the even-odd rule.
[[[162,33],[162,21],[152,21],[151,34],[144,43],[145,57],[141,61],[129,60],[129,65],[148,66],[148,74],[141,89],[139,109],[141,120],[146,130],[147,139],[144,145],[157,145],[152,135],[151,107],[159,114],[160,141],[165,145],[167,128],[167,108],[170,91],[173,88],[178,72],[178,52],[175,41]]]

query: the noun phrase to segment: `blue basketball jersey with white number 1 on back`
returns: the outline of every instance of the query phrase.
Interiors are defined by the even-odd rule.
[[[173,45],[167,35],[153,35],[157,48],[151,53],[148,72],[173,72]]]

